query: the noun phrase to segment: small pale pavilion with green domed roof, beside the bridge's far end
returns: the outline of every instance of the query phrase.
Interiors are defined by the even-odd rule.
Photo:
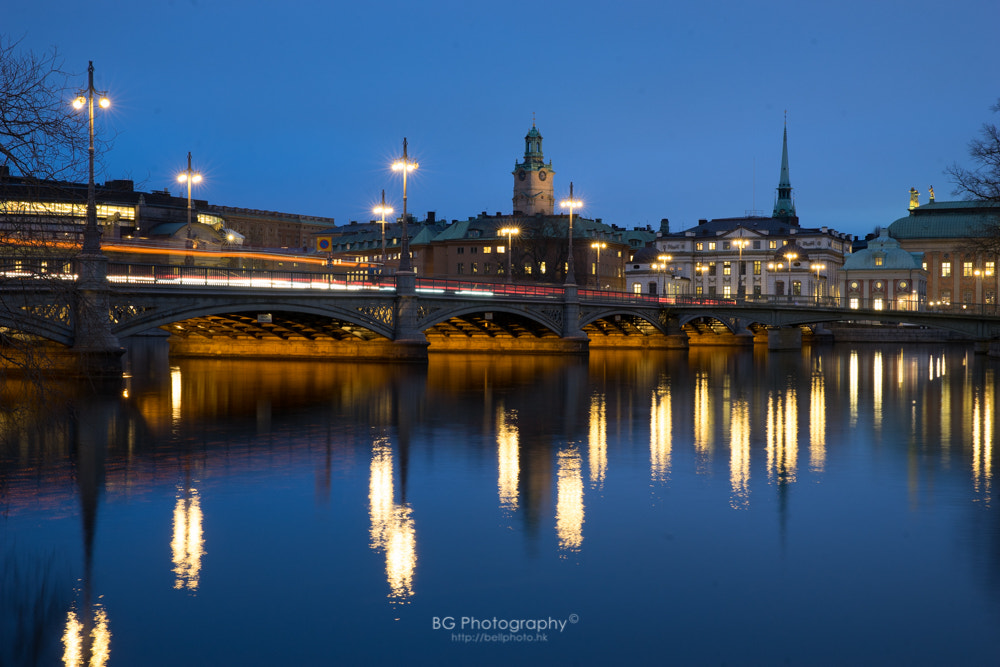
[[[850,308],[923,310],[927,272],[923,253],[903,250],[882,229],[868,247],[851,254],[840,272],[840,290]]]

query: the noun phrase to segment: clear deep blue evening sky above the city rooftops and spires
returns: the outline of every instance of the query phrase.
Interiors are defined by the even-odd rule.
[[[788,112],[803,226],[863,235],[906,214],[1000,98],[996,0],[379,2],[32,0],[4,34],[55,46],[113,109],[97,180],[214,204],[371,217],[403,137],[409,211],[511,210],[532,116],[556,196],[633,227],[770,214]]]

